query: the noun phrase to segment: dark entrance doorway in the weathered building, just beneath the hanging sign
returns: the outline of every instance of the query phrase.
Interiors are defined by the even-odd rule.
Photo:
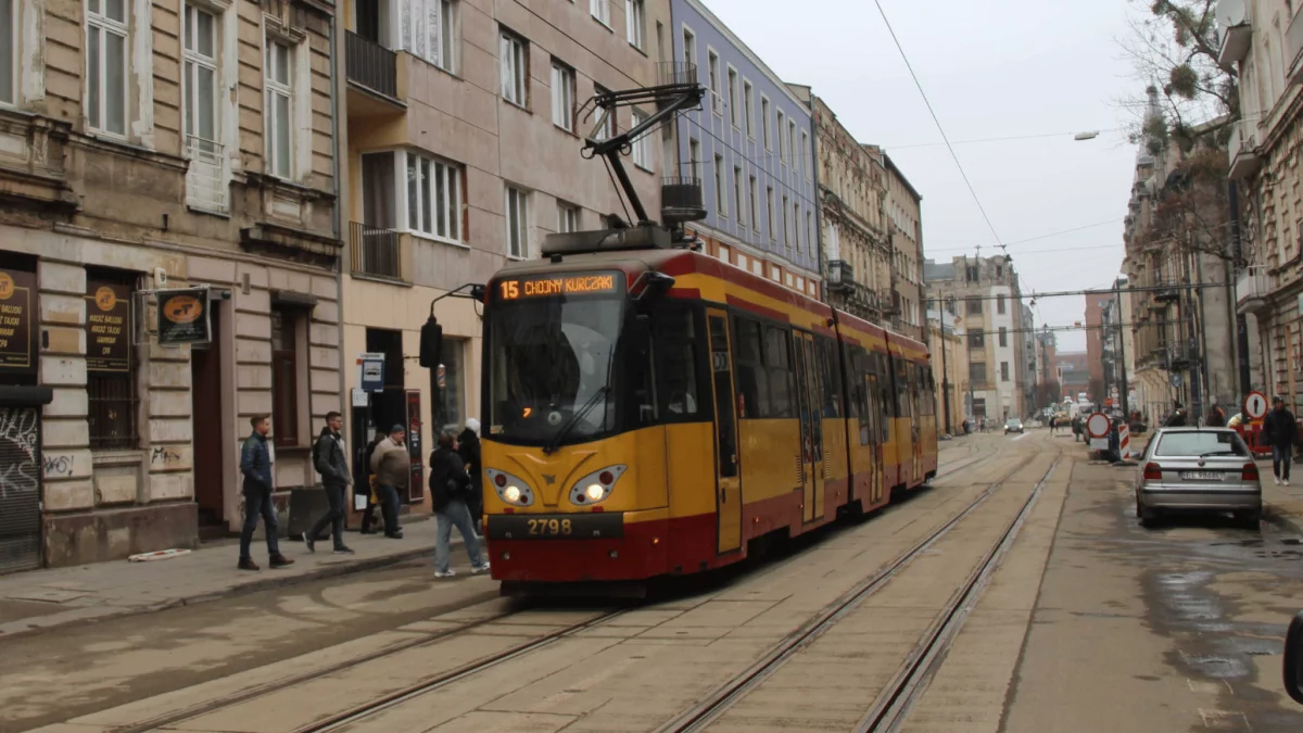
[[[222,433],[222,316],[210,309],[212,340],[190,350],[190,399],[194,410],[194,501],[199,524],[225,527],[225,464],[228,437]],[[224,530],[220,533],[225,533]]]

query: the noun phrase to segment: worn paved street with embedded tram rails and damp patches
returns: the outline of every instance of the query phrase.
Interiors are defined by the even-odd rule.
[[[648,603],[509,601],[422,558],[0,638],[0,729],[1303,729],[1285,489],[1260,532],[1144,530],[1135,468],[1071,436],[942,446],[908,501]]]

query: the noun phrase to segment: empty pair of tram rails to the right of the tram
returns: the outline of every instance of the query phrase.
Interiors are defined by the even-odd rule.
[[[990,484],[959,514],[932,531],[926,537],[916,543],[908,550],[896,556],[882,570],[870,578],[861,580],[831,604],[826,605],[803,626],[778,642],[760,660],[721,687],[715,689],[704,700],[662,724],[657,728],[657,733],[705,730],[711,724],[718,721],[739,702],[758,689],[778,669],[800,655],[816,639],[833,629],[866,599],[883,588],[891,579],[899,576],[913,560],[926,553],[936,543],[938,543],[960,522],[982,506],[1001,486],[1009,483],[1019,471],[1029,466],[1036,458],[1036,455],[1032,455],[1025,460],[1019,462],[1018,466]],[[968,579],[960,586],[959,591],[956,591],[946,603],[942,612],[933,621],[928,633],[924,635],[924,639],[920,640],[913,652],[906,659],[906,663],[902,665],[900,670],[896,672],[886,690],[878,695],[878,699],[874,700],[874,704],[869,708],[869,713],[866,713],[856,725],[855,729],[857,732],[894,730],[900,723],[903,723],[909,707],[912,707],[913,702],[926,689],[926,681],[930,680],[930,676],[936,672],[936,666],[938,666],[939,661],[943,659],[945,650],[949,648],[950,642],[958,634],[959,627],[963,625],[963,620],[971,610],[972,603],[975,603],[981,595],[981,591],[985,588],[990,575],[999,566],[1001,560],[1016,537],[1018,531],[1022,528],[1023,522],[1031,513],[1032,506],[1035,506],[1036,498],[1041,494],[1045,481],[1050,475],[1053,475],[1058,463],[1059,456],[1055,456],[1049,470],[1046,470],[1046,472],[1036,483],[1028,500],[1022,505],[1014,520],[999,535],[999,539],[986,553],[982,562],[977,565],[977,567],[969,574]],[[952,471],[958,471],[960,468],[962,467]]]

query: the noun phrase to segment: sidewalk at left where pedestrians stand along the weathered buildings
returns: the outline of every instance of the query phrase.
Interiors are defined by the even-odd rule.
[[[0,640],[68,623],[102,621],[208,603],[250,593],[383,567],[416,557],[430,557],[434,578],[434,539],[438,523],[407,518],[404,539],[345,532],[357,554],[331,554],[331,541],[318,541],[317,552],[298,540],[281,539],[281,552],[294,561],[289,567],[267,567],[267,545],[254,543],[258,573],[236,570],[240,554],[235,543],[223,541],[172,560],[128,562],[125,560],[0,575]],[[461,537],[453,532],[453,545]]]

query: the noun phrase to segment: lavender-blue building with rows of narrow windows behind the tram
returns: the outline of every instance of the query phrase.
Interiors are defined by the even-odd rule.
[[[709,214],[688,230],[713,256],[818,297],[809,107],[698,0],[671,0],[670,18],[674,57],[708,89],[666,141],[668,175],[702,183]]]

